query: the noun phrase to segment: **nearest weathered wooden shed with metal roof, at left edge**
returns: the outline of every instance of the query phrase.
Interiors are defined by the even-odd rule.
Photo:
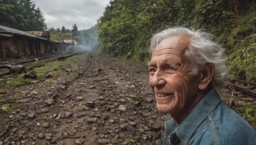
[[[0,59],[19,59],[47,53],[48,39],[0,25]]]

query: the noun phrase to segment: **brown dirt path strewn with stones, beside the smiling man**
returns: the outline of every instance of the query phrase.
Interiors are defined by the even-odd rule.
[[[77,57],[58,78],[6,94],[21,95],[1,123],[0,144],[161,144],[164,116],[147,67],[97,55],[88,66],[88,54]]]

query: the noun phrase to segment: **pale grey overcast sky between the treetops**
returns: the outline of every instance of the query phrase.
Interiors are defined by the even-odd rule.
[[[109,0],[34,0],[42,11],[47,27],[79,30],[89,29],[97,24]]]

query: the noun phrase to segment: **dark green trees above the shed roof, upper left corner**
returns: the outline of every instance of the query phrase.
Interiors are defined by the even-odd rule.
[[[44,31],[46,24],[39,8],[31,0],[2,0],[0,25],[22,31]]]

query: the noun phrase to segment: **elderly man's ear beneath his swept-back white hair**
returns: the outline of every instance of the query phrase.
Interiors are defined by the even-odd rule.
[[[204,69],[200,71],[200,81],[198,84],[199,90],[205,90],[207,86],[211,83],[212,77],[215,72],[215,67],[212,63],[207,62]]]

